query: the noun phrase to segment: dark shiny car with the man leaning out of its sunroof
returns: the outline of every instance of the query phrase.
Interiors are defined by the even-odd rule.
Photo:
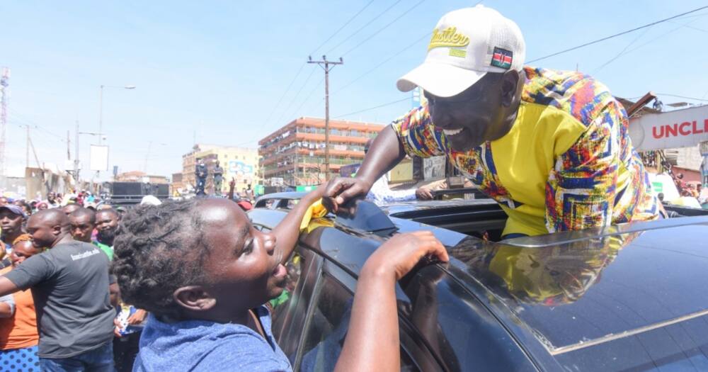
[[[396,288],[405,371],[708,369],[706,215],[493,242],[506,215],[488,199],[342,210],[303,232],[272,302],[295,371],[333,368],[367,257],[416,230],[432,231],[450,262]],[[270,230],[285,213],[249,216]]]

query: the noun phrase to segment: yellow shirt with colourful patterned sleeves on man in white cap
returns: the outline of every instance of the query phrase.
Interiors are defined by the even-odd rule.
[[[586,74],[525,67],[513,127],[469,152],[456,152],[428,107],[392,127],[409,155],[446,155],[508,215],[503,235],[653,220],[658,201],[629,139],[627,113]]]

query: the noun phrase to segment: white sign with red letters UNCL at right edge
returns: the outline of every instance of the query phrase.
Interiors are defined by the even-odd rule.
[[[697,146],[708,141],[708,106],[630,119],[629,137],[639,151]]]

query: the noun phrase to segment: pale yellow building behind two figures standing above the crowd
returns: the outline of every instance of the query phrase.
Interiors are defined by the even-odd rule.
[[[224,169],[224,181],[222,182],[222,193],[229,191],[229,181],[233,178],[236,181],[236,191],[240,192],[251,185],[253,188],[261,184],[258,176],[258,150],[245,147],[228,147],[217,145],[194,145],[192,151],[182,155],[182,179],[183,188],[194,188],[197,184],[195,177],[195,165],[198,159],[204,160],[209,169],[205,191],[214,192],[212,182],[212,169],[216,161]]]

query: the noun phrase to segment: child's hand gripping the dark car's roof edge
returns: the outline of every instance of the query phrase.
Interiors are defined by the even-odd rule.
[[[432,232],[418,231],[395,235],[367,259],[362,273],[372,271],[372,274],[394,274],[398,281],[426,256],[445,262],[450,260],[445,247]]]

